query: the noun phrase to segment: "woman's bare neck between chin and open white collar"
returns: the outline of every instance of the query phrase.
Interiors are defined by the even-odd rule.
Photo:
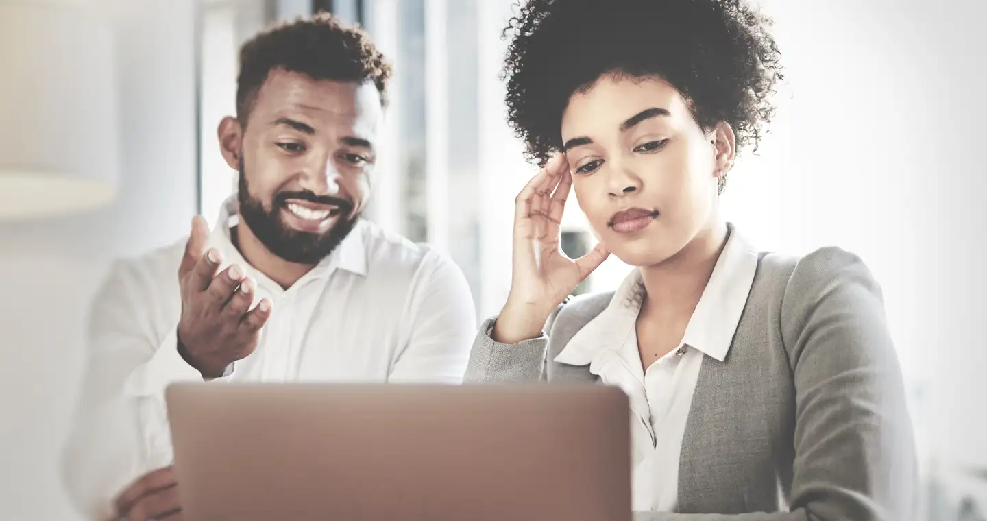
[[[691,315],[713,275],[726,235],[726,224],[716,222],[671,258],[642,267],[647,295],[642,313]]]

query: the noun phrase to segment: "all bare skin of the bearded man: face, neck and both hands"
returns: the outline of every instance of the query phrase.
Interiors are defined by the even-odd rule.
[[[372,83],[317,81],[274,70],[262,86],[246,125],[235,117],[220,122],[220,151],[230,168],[239,170],[243,161],[251,195],[268,211],[274,195],[287,190],[344,199],[351,205],[349,215],[355,215],[370,196],[382,117],[380,95]],[[285,226],[320,234],[328,233],[344,218],[337,215],[313,227],[286,213],[281,210]],[[236,228],[240,253],[281,286],[291,286],[314,267],[272,254],[244,220],[240,222]],[[221,375],[230,361],[247,356],[257,347],[271,303],[264,299],[250,309],[256,282],[236,264],[217,273],[222,258],[217,250],[205,251],[207,239],[205,222],[196,216],[179,272],[184,315],[179,340],[180,352],[190,364],[203,376],[214,377]],[[190,319],[185,320],[185,315]],[[193,338],[202,341],[192,342]],[[183,348],[183,343],[188,345]],[[200,345],[193,347],[192,343]],[[202,359],[208,363],[196,362]],[[171,467],[152,471],[120,492],[115,501],[117,515],[129,521],[179,521],[178,489]]]

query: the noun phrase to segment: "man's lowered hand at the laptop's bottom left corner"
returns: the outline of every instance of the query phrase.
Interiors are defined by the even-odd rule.
[[[173,468],[152,471],[127,486],[116,498],[115,507],[118,520],[182,521]]]

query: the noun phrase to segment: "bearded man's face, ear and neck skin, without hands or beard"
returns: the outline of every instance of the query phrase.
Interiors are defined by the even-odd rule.
[[[382,122],[380,93],[372,83],[312,80],[274,70],[246,127],[225,117],[218,137],[230,168],[238,169],[243,159],[251,195],[266,210],[279,191],[307,190],[347,200],[354,215],[370,197]],[[286,210],[281,213],[282,223],[303,230]],[[329,232],[341,217],[324,221],[318,233]],[[283,287],[313,267],[273,255],[247,226],[237,227],[237,239],[244,259]]]

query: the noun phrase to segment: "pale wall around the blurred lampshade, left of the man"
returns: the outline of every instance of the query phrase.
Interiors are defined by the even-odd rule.
[[[120,198],[86,215],[0,224],[4,519],[77,518],[57,465],[83,369],[89,300],[108,260],[179,239],[195,210],[195,2],[98,3],[118,32]]]

